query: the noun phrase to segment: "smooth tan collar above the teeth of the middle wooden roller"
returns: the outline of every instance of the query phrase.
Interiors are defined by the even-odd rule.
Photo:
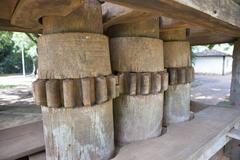
[[[157,72],[163,70],[163,43],[159,39],[111,38],[110,53],[113,71]]]

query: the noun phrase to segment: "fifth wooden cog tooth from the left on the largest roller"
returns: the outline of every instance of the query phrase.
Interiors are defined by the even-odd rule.
[[[101,76],[96,78],[96,103],[101,104],[108,100],[107,81]]]

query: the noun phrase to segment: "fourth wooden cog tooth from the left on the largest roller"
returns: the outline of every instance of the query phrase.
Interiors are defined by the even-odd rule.
[[[91,106],[95,103],[95,80],[94,78],[83,78],[82,83],[82,100],[84,106]]]

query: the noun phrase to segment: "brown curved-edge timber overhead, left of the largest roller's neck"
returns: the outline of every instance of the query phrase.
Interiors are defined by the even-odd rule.
[[[20,1],[11,18],[11,24],[23,28],[42,28],[40,18],[66,16],[83,4],[83,0],[64,1]],[[23,18],[24,17],[24,18]]]

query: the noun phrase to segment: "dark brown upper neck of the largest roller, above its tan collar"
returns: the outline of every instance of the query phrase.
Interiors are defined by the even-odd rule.
[[[85,0],[80,7],[66,16],[46,15],[42,22],[44,34],[103,33],[101,4],[97,0]]]

